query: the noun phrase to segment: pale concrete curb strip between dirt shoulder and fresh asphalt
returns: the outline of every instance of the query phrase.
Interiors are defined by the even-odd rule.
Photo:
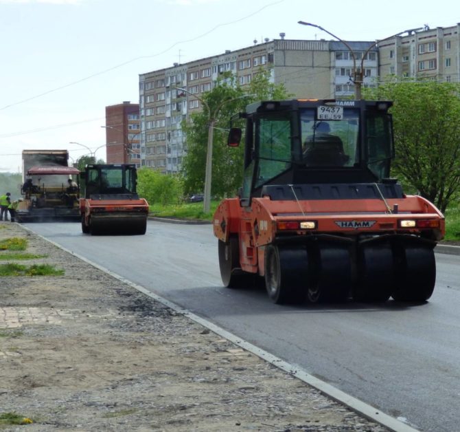
[[[337,389],[336,387],[328,384],[327,382],[320,380],[319,378],[309,374],[306,370],[302,369],[298,365],[287,363],[284,360],[281,360],[281,358],[273,356],[273,354],[266,352],[264,349],[256,347],[255,345],[242,340],[242,338],[235,336],[235,334],[227,332],[227,330],[224,330],[221,327],[218,327],[218,325],[215,325],[214,323],[211,323],[210,321],[207,321],[204,318],[201,318],[200,316],[190,312],[189,310],[184,309],[183,307],[179,305],[176,305],[176,303],[172,303],[171,301],[164,299],[158,294],[154,294],[153,292],[144,288],[142,285],[129,281],[128,279],[125,279],[119,274],[111,270],[108,270],[108,268],[104,268],[103,266],[100,266],[99,264],[94,263],[93,261],[83,257],[82,255],[79,255],[78,253],[73,252],[72,250],[69,250],[67,248],[64,248],[63,246],[60,246],[60,244],[57,244],[55,241],[52,241],[50,239],[47,239],[46,237],[43,237],[42,235],[39,235],[38,233],[35,233],[30,228],[27,228],[23,225],[21,226],[24,230],[27,230],[30,233],[40,237],[41,239],[47,241],[48,243],[56,246],[60,250],[64,250],[65,252],[73,255],[74,257],[81,259],[85,263],[88,263],[90,266],[93,266],[94,268],[97,268],[98,270],[101,270],[102,272],[109,274],[111,277],[114,277],[120,282],[130,285],[130,287],[135,288],[135,290],[142,292],[143,294],[146,294],[151,299],[154,299],[155,301],[158,301],[159,303],[167,307],[170,307],[170,309],[174,310],[178,314],[182,314],[183,316],[191,319],[192,321],[200,325],[203,325],[203,327],[206,327],[211,332],[214,332],[218,334],[219,336],[222,336],[222,338],[226,338],[227,340],[231,341],[235,345],[242,347],[242,349],[245,349],[246,351],[251,352],[255,356],[262,358],[262,360],[268,363],[271,363],[271,365],[277,367],[278,369],[288,372],[288,374],[290,374],[291,376],[294,376],[295,378],[305,382],[311,387],[314,387],[315,389],[321,391],[321,393],[323,393],[325,396],[328,396],[332,398],[333,400],[336,400],[336,402],[340,402],[341,404],[344,404],[345,406],[349,407],[349,409],[352,409],[352,411],[360,415],[363,415],[363,417],[367,418],[368,420],[381,424],[382,426],[387,427],[390,431],[393,431],[393,432],[419,432],[419,429],[414,429],[409,424],[406,424],[402,422],[401,420],[398,420],[397,418],[391,417],[391,415],[388,415],[387,413],[380,411],[380,409],[372,407],[371,405],[363,402],[362,400],[359,400],[358,398],[354,398],[353,396],[350,396],[344,391],[341,391]]]

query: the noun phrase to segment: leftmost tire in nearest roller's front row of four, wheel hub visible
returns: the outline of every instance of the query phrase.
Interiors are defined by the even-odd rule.
[[[304,303],[308,270],[305,246],[266,246],[265,288],[273,303]]]

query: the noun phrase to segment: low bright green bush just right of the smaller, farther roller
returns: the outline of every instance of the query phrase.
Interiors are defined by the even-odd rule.
[[[163,174],[149,168],[137,170],[137,193],[148,204],[178,204],[183,198],[183,185],[179,175]]]

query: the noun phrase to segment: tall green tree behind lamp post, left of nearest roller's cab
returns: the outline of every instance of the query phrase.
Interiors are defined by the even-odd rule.
[[[231,116],[244,111],[244,107],[255,100],[284,99],[287,96],[284,85],[271,83],[271,72],[268,69],[260,69],[247,87],[240,86],[231,72],[221,74],[214,89],[200,96],[207,106],[203,104],[203,111],[192,114],[190,122],[182,124],[187,137],[187,156],[183,161],[185,192],[192,194],[204,189],[208,128],[213,114],[216,125],[211,196],[223,197],[235,194],[242,185],[243,175],[244,149],[242,146],[229,148],[226,145]]]

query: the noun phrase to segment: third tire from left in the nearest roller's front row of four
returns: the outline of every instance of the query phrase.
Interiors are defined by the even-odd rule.
[[[389,241],[371,242],[358,247],[358,280],[354,301],[383,303],[391,296],[395,283],[393,250]]]

